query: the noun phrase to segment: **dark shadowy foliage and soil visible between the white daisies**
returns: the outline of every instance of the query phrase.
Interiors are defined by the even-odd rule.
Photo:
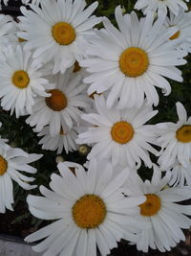
[[[95,2],[94,0],[87,0],[88,4]],[[97,16],[107,16],[115,25],[115,8],[117,5],[121,5],[126,11],[131,12],[136,3],[135,0],[98,0],[99,6],[96,10]],[[7,7],[3,6],[1,13],[10,14],[14,18],[20,15],[21,3],[19,0],[10,0]],[[137,12],[141,16],[141,12]],[[98,25],[100,28],[102,25]],[[172,86],[172,92],[168,97],[164,97],[160,90],[159,92],[159,105],[156,109],[159,109],[159,114],[154,117],[150,124],[156,124],[159,122],[177,122],[176,103],[180,101],[188,113],[191,115],[191,56],[186,57],[187,64],[180,66],[182,71],[183,82],[170,81]],[[0,128],[0,135],[3,138],[9,139],[11,147],[21,148],[29,153],[43,153],[43,157],[32,165],[37,168],[38,172],[35,176],[35,184],[38,186],[44,185],[48,187],[50,182],[50,175],[56,171],[56,152],[43,151],[41,146],[38,145],[39,138],[32,131],[32,128],[25,123],[26,117],[20,117],[16,119],[15,115],[10,115],[9,111],[4,111],[0,108],[0,122],[2,122],[2,128]],[[61,156],[64,160],[74,161],[77,163],[84,163],[86,160],[86,154],[79,148],[78,151],[70,152],[66,154],[62,152]],[[153,159],[155,161],[155,159]],[[141,168],[138,171],[139,175],[143,179],[151,178],[152,171]],[[28,194],[39,195],[39,190],[36,188],[32,191],[25,191],[20,188],[17,183],[14,182],[14,212],[7,210],[6,214],[0,214],[0,236],[2,234],[17,236],[24,238],[26,235],[32,233],[37,228],[47,224],[48,221],[38,220],[32,217],[28,210],[26,198]],[[159,253],[158,251],[150,251],[147,253],[138,252],[135,246],[129,246],[127,243],[121,242],[117,249],[113,250],[115,256],[126,255],[191,255],[190,250],[190,232],[186,232],[186,243],[180,244],[172,252]]]

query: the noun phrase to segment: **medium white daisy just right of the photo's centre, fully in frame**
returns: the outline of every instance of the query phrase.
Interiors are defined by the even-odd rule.
[[[82,119],[94,125],[78,135],[77,143],[95,143],[88,159],[112,159],[113,165],[138,168],[141,160],[151,168],[148,151],[157,154],[149,143],[156,144],[154,126],[143,125],[158,113],[152,107],[117,110],[106,106],[103,96],[96,96],[98,114],[83,114]]]

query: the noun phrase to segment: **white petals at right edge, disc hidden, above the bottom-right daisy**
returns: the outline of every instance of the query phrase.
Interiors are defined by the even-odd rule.
[[[191,187],[191,159],[187,167],[182,166],[179,161],[176,161],[171,169],[169,185],[174,187],[188,185]]]

